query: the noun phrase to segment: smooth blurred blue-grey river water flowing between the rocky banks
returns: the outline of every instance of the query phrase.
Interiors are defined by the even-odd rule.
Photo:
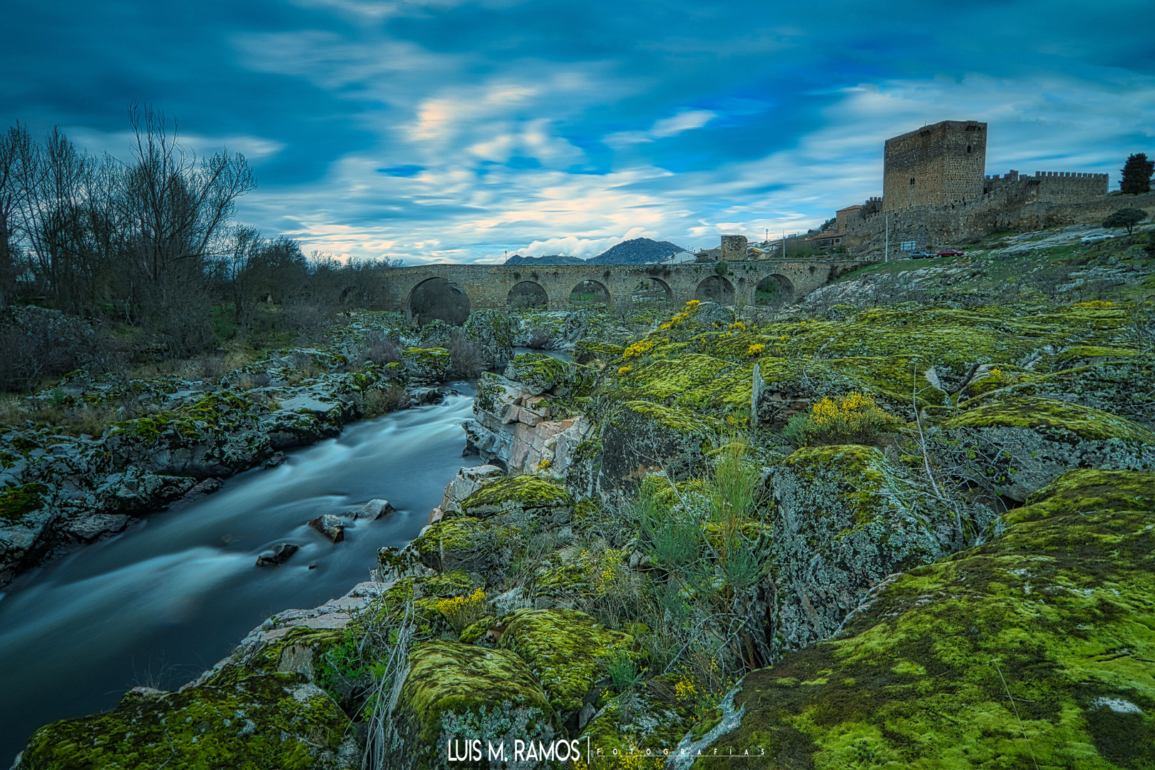
[[[412,540],[457,469],[478,462],[461,455],[474,389],[454,387],[463,395],[351,425],[15,581],[0,599],[0,767],[40,725],[109,709],[136,685],[174,688],[269,615],[368,580],[377,550]],[[346,518],[342,543],[305,525],[373,498],[397,513]],[[255,567],[277,543],[300,551]]]

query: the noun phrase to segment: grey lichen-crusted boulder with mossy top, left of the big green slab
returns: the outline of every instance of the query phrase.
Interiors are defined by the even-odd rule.
[[[953,510],[873,447],[799,449],[773,486],[776,650],[827,638],[887,575],[949,553],[992,517],[975,508],[956,523]]]

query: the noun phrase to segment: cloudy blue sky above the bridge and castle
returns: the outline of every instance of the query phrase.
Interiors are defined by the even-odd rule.
[[[0,118],[125,155],[126,107],[240,151],[239,218],[341,256],[594,256],[805,230],[882,142],[990,124],[988,173],[1155,155],[1150,3],[6,0]]]

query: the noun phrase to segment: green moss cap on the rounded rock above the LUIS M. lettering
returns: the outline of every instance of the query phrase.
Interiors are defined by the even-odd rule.
[[[553,717],[542,686],[513,652],[457,642],[427,642],[413,650],[409,663],[401,698],[413,715],[424,743],[438,740],[446,713],[461,717],[505,704],[531,711],[539,723],[549,723]]]

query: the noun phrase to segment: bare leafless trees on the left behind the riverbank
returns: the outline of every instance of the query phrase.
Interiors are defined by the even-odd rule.
[[[256,186],[243,155],[199,157],[149,107],[128,118],[127,160],[80,150],[59,128],[0,136],[0,307],[122,324],[176,358],[237,335],[307,334],[383,300],[395,263],[306,257],[238,224],[237,200]]]

